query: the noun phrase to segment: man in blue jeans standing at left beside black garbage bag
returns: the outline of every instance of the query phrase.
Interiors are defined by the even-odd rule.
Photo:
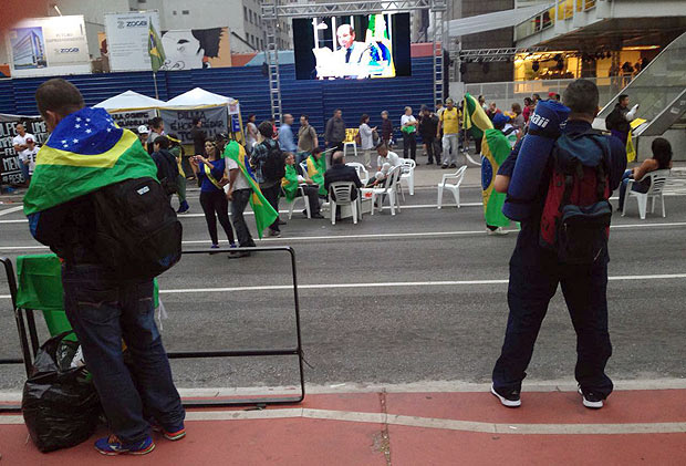
[[[83,134],[84,141],[77,138],[73,145],[71,141],[64,143],[71,157],[92,158],[89,148],[98,144],[102,153],[115,147],[115,143],[107,139],[107,134],[113,132],[119,133],[122,141],[135,137],[127,130],[117,128],[108,116],[98,116],[97,122],[91,120],[98,115],[97,108],[86,108],[79,90],[65,80],[42,83],[35,91],[35,101],[53,135],[56,131],[76,133],[72,128],[80,124],[77,134]],[[84,114],[90,117],[84,118]],[[150,166],[154,174],[149,155],[139,144],[129,146],[127,157]],[[38,170],[40,176],[54,170],[52,176],[59,177],[64,166],[41,166],[39,157]],[[110,177],[101,173],[91,175],[89,183],[106,186]],[[50,195],[51,189],[59,189],[52,185],[32,187],[43,196]],[[76,189],[73,182],[72,188]],[[30,188],[24,199],[29,203],[29,198],[35,199],[35,196],[38,194]],[[64,310],[81,343],[113,432],[97,439],[95,448],[105,455],[144,455],[155,448],[150,423],[168,439],[184,438],[185,412],[155,324],[153,280],[118,278],[103,263],[95,246],[95,217],[92,193],[81,195],[31,214],[31,234],[62,260]],[[122,340],[133,356],[131,366],[124,364]]]

